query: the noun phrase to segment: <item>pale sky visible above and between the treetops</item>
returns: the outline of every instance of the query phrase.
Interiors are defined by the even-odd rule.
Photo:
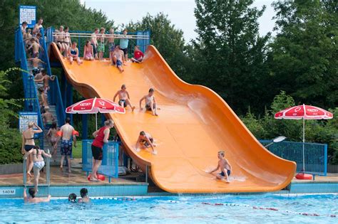
[[[255,0],[253,6],[261,9],[267,6],[264,14],[258,20],[260,23],[260,34],[265,35],[272,32],[275,22],[272,17],[275,11],[272,8],[273,0]],[[159,12],[168,14],[168,18],[176,28],[183,30],[185,41],[195,39],[195,16],[194,0],[81,0],[86,7],[103,11],[115,24],[128,23],[129,21],[140,21],[147,13],[156,15]]]

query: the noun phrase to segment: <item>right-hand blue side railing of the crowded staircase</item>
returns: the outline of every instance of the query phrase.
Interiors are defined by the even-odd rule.
[[[51,35],[52,32],[53,32],[52,28],[46,29],[47,34],[49,33],[49,35]],[[43,28],[41,28],[41,33],[44,33]],[[48,38],[47,38],[47,41],[48,41]],[[48,48],[47,48],[47,46],[49,45],[46,44],[45,38],[41,38],[40,43],[44,51],[42,60],[46,63],[46,69],[47,69],[48,75],[52,75],[51,65],[49,63],[49,58],[48,58]],[[63,125],[64,120],[66,119],[66,114],[65,114],[66,112],[63,107],[60,86],[58,84],[58,78],[56,77],[55,80],[53,82],[50,82],[49,84],[51,87],[51,91],[49,91],[48,100],[51,103],[51,105],[56,105],[56,116],[58,117],[58,126],[61,127]]]

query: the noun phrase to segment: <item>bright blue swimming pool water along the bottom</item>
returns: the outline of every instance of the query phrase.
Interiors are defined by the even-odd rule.
[[[215,195],[93,199],[91,204],[24,204],[0,199],[9,223],[338,223],[337,195]],[[319,215],[319,216],[315,216]]]

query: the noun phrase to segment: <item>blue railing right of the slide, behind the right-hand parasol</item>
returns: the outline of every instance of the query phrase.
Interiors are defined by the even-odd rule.
[[[271,140],[260,140],[262,145]],[[302,142],[277,142],[267,147],[276,156],[295,161],[297,171],[302,171]],[[307,173],[327,176],[327,144],[304,143],[305,171]]]

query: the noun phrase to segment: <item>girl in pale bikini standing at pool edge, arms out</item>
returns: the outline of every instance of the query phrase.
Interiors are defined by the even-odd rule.
[[[34,171],[34,190],[35,193],[38,193],[38,185],[39,185],[39,178],[40,178],[40,171],[45,166],[45,161],[43,161],[43,157],[51,158],[51,154],[46,154],[45,151],[41,150],[39,146],[34,146],[34,149],[31,149],[26,156],[29,154],[33,154],[33,171]]]

